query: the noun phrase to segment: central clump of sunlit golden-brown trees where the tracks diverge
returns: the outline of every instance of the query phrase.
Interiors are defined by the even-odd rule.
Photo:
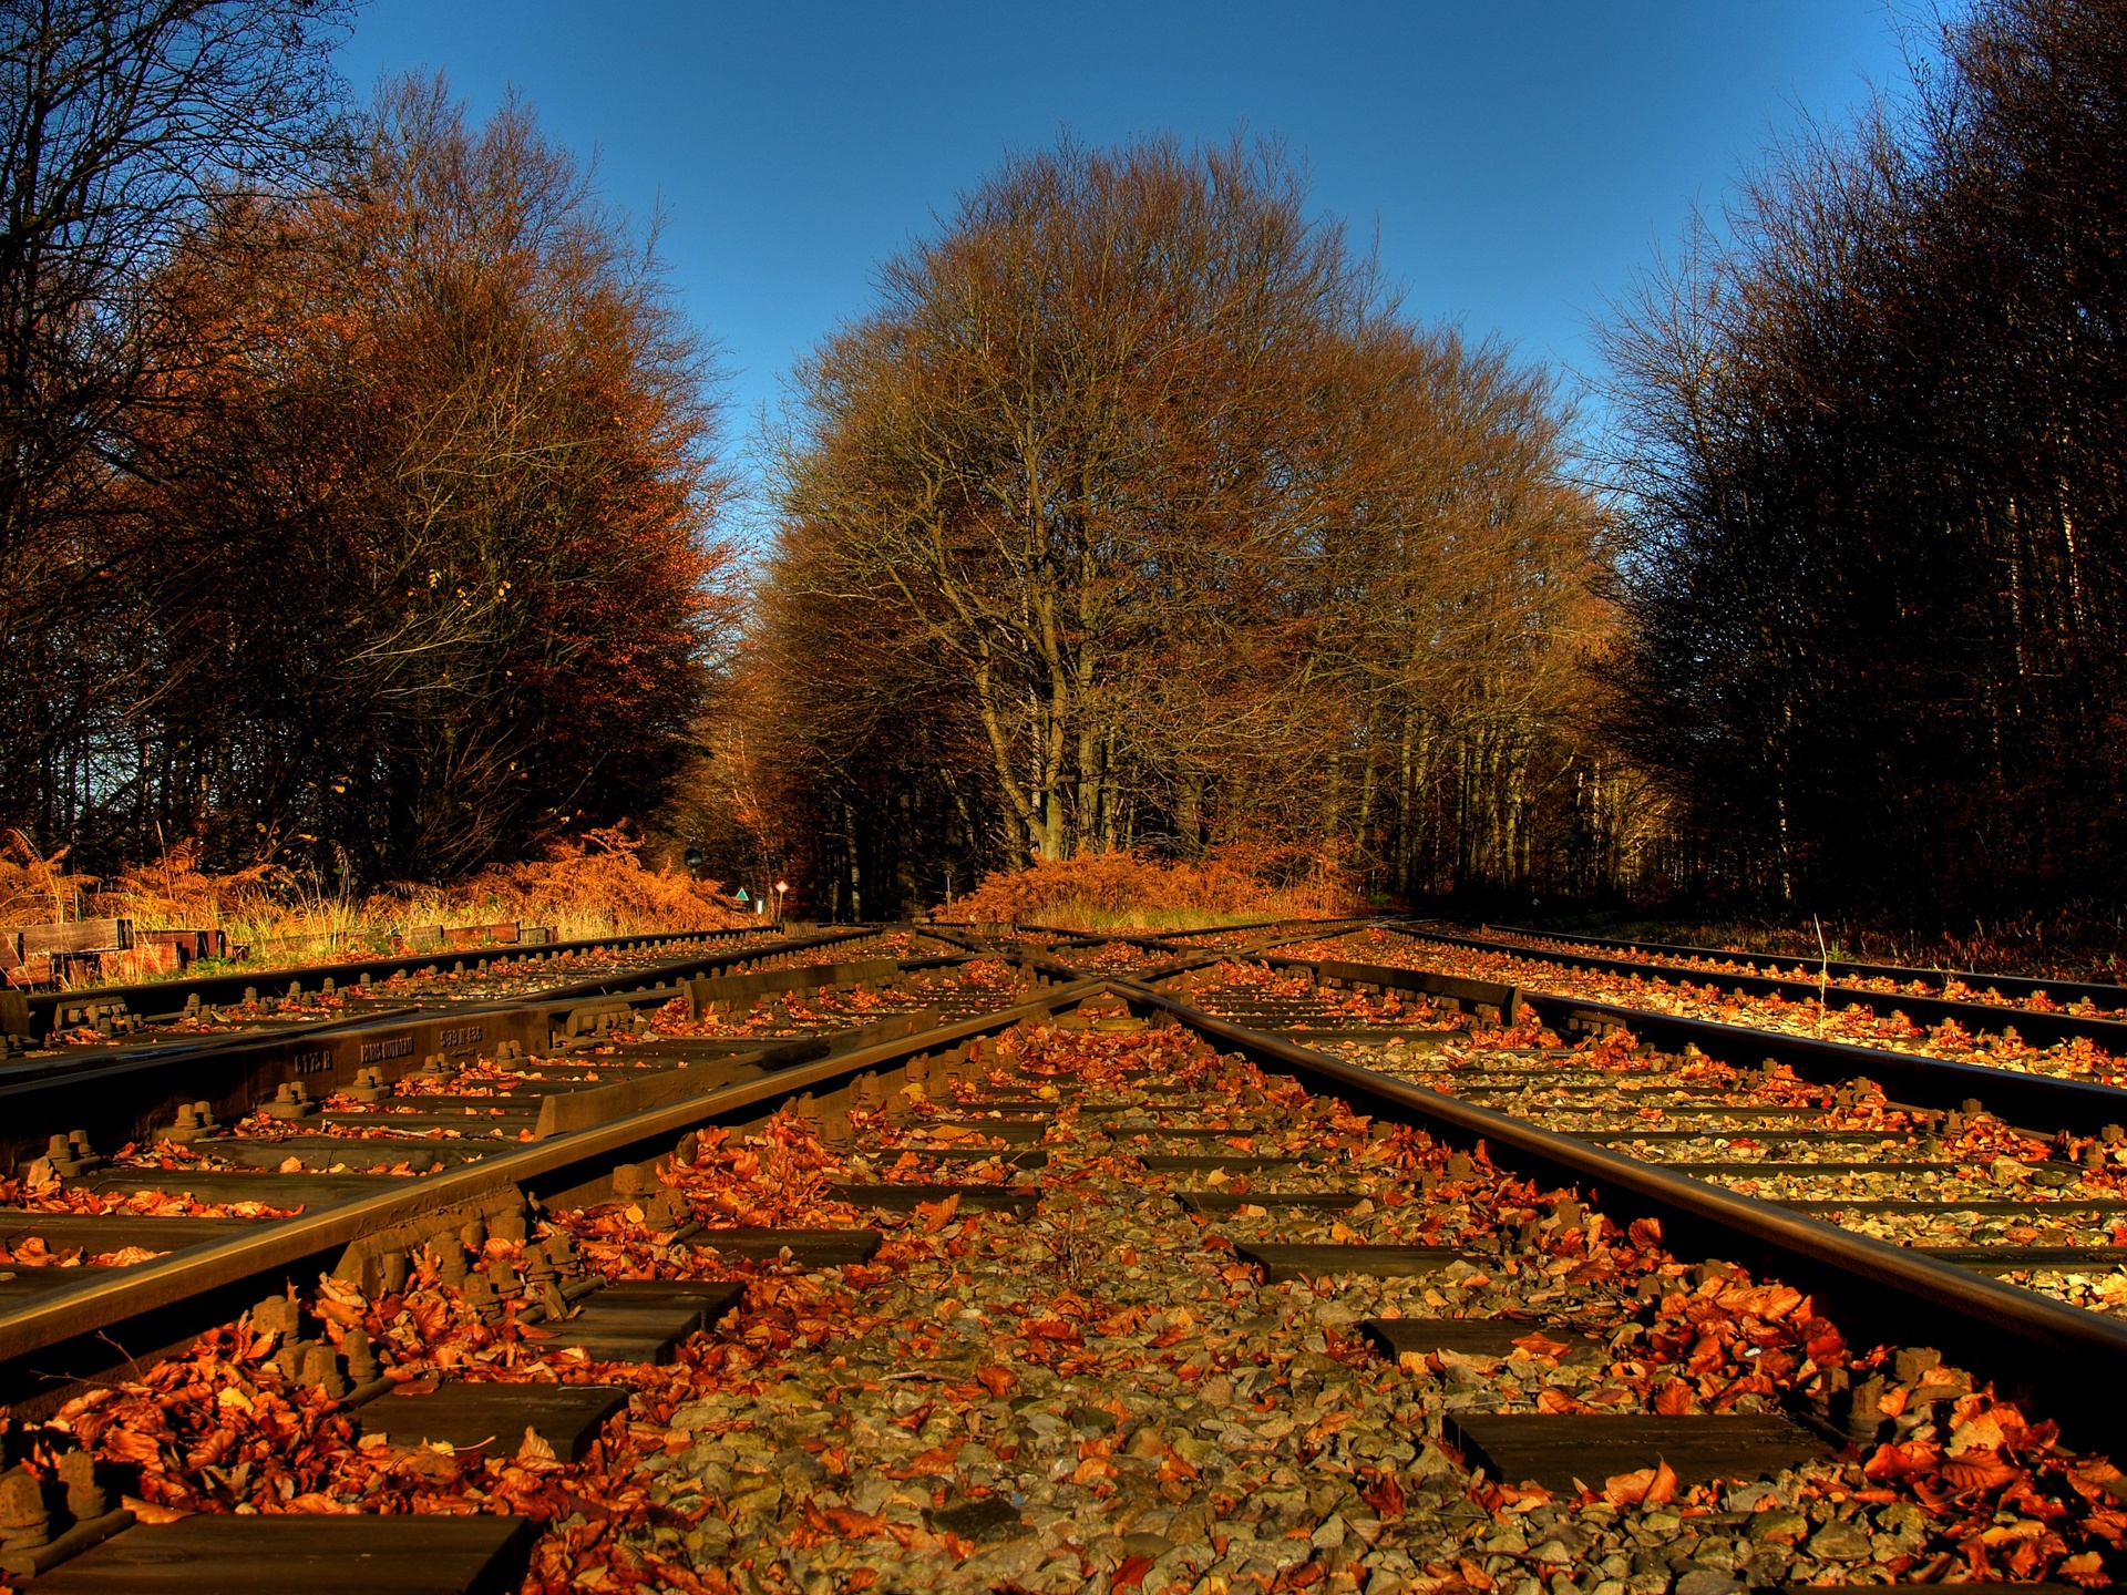
[[[1274,147],[1008,160],[798,370],[700,823],[844,917],[1117,849],[1610,885],[1565,427]]]

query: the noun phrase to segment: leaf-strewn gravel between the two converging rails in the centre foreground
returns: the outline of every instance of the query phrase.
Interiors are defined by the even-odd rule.
[[[815,1108],[704,1134],[649,1189],[538,1214],[527,1233],[462,1233],[453,1257],[438,1242],[376,1299],[334,1282],[287,1316],[262,1304],[40,1425],[23,1438],[28,1465],[55,1470],[87,1448],[132,1470],[149,1516],[525,1512],[542,1525],[525,1589],[542,1593],[1725,1595],[2116,1572],[2127,1516],[2110,1463],[2061,1448],[1921,1348],[1846,1346],[1778,1280],[1672,1257],[1644,1221],[1619,1229],[1570,1191],[1355,1119],[1180,1031],[1021,1027],[966,1076],[889,1078],[891,1097],[859,1095],[847,1123]],[[1055,1116],[1032,1219],[832,1197],[834,1182],[883,1172],[1017,1178],[1002,1157],[940,1176],[929,1121],[993,1112],[1004,1091],[1040,1102],[1042,1089]],[[1087,1112],[1117,1102],[1136,1112]],[[1223,1136],[1159,1134],[1185,1127]],[[861,1153],[830,1146],[844,1136]],[[1323,1163],[1159,1174],[1138,1161],[1155,1144],[1219,1155],[1232,1142],[1236,1157],[1276,1146]],[[1208,1221],[1176,1199],[1302,1189],[1359,1199],[1340,1214]],[[685,1236],[687,1219],[861,1223],[885,1244],[866,1265],[806,1272],[719,1253],[713,1233]],[[1459,1261],[1421,1278],[1266,1287],[1234,1246],[1272,1238],[1429,1244]],[[468,1253],[474,1280],[523,1282],[540,1265],[727,1278],[744,1302],[672,1365],[593,1363],[545,1348],[519,1312],[530,1289],[496,1308],[468,1299],[451,1282]],[[1370,1316],[1442,1314],[1510,1316],[1529,1333],[1508,1357],[1402,1363],[1359,1336]],[[630,1406],[579,1463],[542,1455],[534,1433],[457,1453],[364,1442],[283,1357],[302,1338],[347,1361],[357,1331],[408,1382],[619,1380]],[[1597,1338],[1591,1355],[1561,1338],[1582,1333]],[[1565,1421],[1812,1401],[1865,1433],[1861,1448],[1719,1487],[1680,1487],[1665,1470],[1574,1495],[1493,1480],[1444,1427],[1457,1412]]]

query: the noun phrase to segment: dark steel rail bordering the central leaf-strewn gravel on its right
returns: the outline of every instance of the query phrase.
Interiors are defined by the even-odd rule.
[[[1355,1108],[1483,1146],[1493,1161],[1521,1172],[1587,1185],[1612,1216],[1623,1210],[1661,1219],[1672,1244],[1699,1244],[1729,1261],[1770,1267],[1831,1302],[1848,1331],[1925,1342],[1991,1370],[2004,1393],[2036,1401],[2078,1438],[2110,1444],[2127,1416],[2127,1323],[1314,1053],[1136,980],[1110,987]],[[1736,1257],[1738,1246],[1751,1255]]]

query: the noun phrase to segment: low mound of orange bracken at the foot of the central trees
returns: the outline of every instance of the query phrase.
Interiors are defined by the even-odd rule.
[[[1323,919],[1349,908],[1351,889],[1319,859],[1217,849],[1200,863],[1089,853],[998,872],[942,919],[1089,931],[1210,929],[1253,919]]]

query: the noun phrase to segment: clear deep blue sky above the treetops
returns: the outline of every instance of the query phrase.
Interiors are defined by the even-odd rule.
[[[1904,79],[1887,0],[551,4],[372,0],[366,96],[515,87],[596,155],[723,351],[732,436],[874,268],[1015,147],[1276,134],[1412,315],[1589,370],[1587,325],[1802,115]],[[1902,21],[1904,17],[1904,21]]]

